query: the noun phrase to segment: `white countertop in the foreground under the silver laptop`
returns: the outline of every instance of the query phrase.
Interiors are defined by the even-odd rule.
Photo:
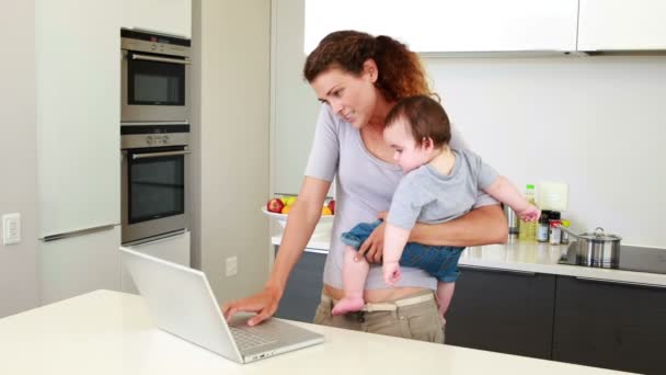
[[[298,325],[323,333],[325,342],[240,365],[157,329],[143,298],[97,291],[0,319],[0,374],[615,373],[323,326]]]

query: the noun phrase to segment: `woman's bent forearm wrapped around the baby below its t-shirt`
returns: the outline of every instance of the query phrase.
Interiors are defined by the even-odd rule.
[[[417,223],[410,236],[410,242],[456,247],[505,243],[507,239],[508,226],[498,204],[474,208],[441,224]]]

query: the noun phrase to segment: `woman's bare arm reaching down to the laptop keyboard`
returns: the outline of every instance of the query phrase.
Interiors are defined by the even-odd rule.
[[[298,198],[289,212],[283,241],[264,289],[250,297],[226,304],[222,307],[225,317],[230,318],[239,311],[257,312],[248,320],[248,325],[255,326],[275,314],[289,273],[306,249],[319,221],[321,207],[330,186],[329,181],[306,177]]]

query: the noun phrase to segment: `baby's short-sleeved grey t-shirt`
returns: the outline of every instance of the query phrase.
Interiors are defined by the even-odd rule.
[[[387,221],[412,229],[416,221],[437,224],[467,214],[497,172],[470,150],[452,150],[456,162],[448,175],[425,164],[405,174],[391,202]]]

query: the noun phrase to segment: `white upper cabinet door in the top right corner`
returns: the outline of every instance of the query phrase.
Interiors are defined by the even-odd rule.
[[[663,0],[581,0],[578,49],[665,49],[665,14]]]

